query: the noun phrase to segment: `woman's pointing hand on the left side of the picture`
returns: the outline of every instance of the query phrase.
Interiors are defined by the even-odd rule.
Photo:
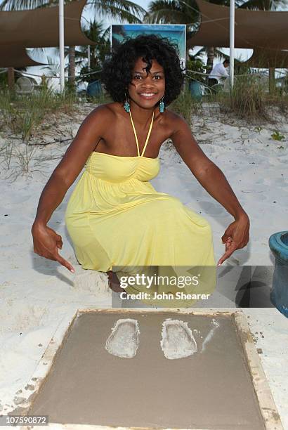
[[[70,272],[75,270],[69,261],[63,259],[58,253],[58,249],[62,249],[62,237],[58,235],[52,228],[44,224],[34,223],[31,229],[33,236],[34,252],[49,260],[58,261],[62,266],[65,266]]]

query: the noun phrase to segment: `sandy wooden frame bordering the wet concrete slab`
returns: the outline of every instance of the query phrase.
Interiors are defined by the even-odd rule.
[[[69,332],[70,327],[74,323],[74,320],[80,313],[87,312],[96,312],[96,313],[123,313],[127,315],[129,313],[149,313],[149,312],[167,312],[167,313],[176,313],[178,315],[181,314],[190,314],[190,315],[204,315],[204,316],[227,316],[228,318],[233,318],[235,325],[237,327],[237,333],[240,337],[240,342],[242,344],[242,348],[244,351],[244,356],[246,358],[247,367],[249,370],[249,374],[251,375],[251,379],[254,385],[256,398],[258,400],[258,405],[261,410],[261,414],[263,417],[264,425],[266,426],[266,430],[284,430],[282,426],[282,422],[280,419],[280,415],[277,412],[277,408],[270,391],[270,387],[268,385],[268,381],[266,379],[266,374],[263,371],[263,367],[261,365],[261,360],[258,357],[258,353],[256,351],[256,347],[254,345],[253,338],[251,336],[251,332],[249,330],[249,326],[247,323],[247,319],[242,311],[217,311],[216,309],[178,309],[178,308],[86,308],[86,309],[78,309],[76,313],[73,315],[67,316],[61,320],[58,325],[57,330],[55,331],[50,343],[48,344],[44,355],[39,360],[37,368],[30,378],[28,384],[33,388],[33,391],[30,391],[30,396],[24,398],[22,403],[19,406],[18,412],[13,411],[13,415],[29,415],[29,410],[32,406],[34,398],[37,396],[37,393],[41,387],[41,385],[45,382],[46,377],[48,377],[48,373],[51,370],[51,366],[55,360],[55,356],[58,351],[65,344],[65,338]],[[11,413],[12,415],[12,413]],[[112,426],[98,426],[98,425],[89,425],[89,424],[58,424],[58,423],[49,423],[48,428],[53,428],[55,430],[100,430],[100,429],[110,429],[110,430],[126,430],[127,427],[112,427]],[[30,430],[32,429],[31,425],[21,426],[20,430]],[[133,429],[140,429],[138,427],[133,427]],[[143,427],[141,427],[143,429]],[[148,429],[148,428],[147,428]],[[174,429],[165,429],[165,430],[174,430]],[[177,429],[177,430],[186,430],[186,429]],[[209,430],[209,429],[198,429],[198,430]]]

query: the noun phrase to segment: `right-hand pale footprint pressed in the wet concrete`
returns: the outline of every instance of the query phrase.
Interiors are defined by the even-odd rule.
[[[162,324],[160,345],[164,356],[169,360],[192,356],[197,351],[197,344],[188,323],[171,318]]]

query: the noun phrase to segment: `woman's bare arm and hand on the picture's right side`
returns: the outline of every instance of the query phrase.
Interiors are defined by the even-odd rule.
[[[214,162],[211,162],[195,141],[188,124],[178,115],[174,122],[175,127],[171,139],[177,152],[197,178],[197,181],[235,219],[235,222],[228,226],[222,236],[226,250],[218,261],[218,264],[221,264],[225,259],[228,259],[235,249],[247,245],[249,241],[249,217],[237,200],[221,169]]]

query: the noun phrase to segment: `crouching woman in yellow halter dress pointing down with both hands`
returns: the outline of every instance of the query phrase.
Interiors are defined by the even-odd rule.
[[[249,218],[228,181],[188,124],[166,110],[183,84],[174,45],[155,35],[129,39],[105,63],[103,82],[114,102],[86,117],[48,180],[32,226],[34,252],[74,272],[58,253],[60,235],[47,223],[86,165],[65,214],[83,268],[105,271],[112,280],[112,266],[121,273],[134,266],[215,266],[209,223],[149,182],[159,172],[159,149],[168,138],[199,183],[235,218],[222,237],[225,253],[218,265],[247,245]]]

